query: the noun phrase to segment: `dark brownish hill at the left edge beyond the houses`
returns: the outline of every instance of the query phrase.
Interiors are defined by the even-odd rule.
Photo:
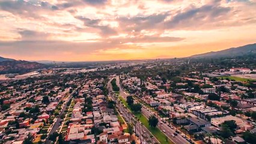
[[[16,61],[15,59],[8,59],[0,57],[0,74],[6,73],[26,73],[30,70],[36,70],[44,68],[44,64],[39,64],[38,62],[28,62],[28,61]]]

